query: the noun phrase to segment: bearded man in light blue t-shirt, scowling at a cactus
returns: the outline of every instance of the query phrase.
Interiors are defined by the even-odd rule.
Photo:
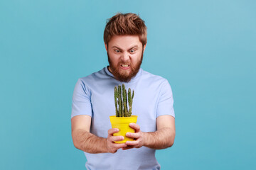
[[[140,68],[146,26],[134,13],[117,13],[107,22],[104,42],[110,66],[78,79],[73,94],[72,137],[85,152],[87,169],[160,169],[156,149],[174,144],[175,115],[169,82]],[[117,144],[110,115],[115,115],[114,86],[134,89],[132,115],[137,123],[127,133],[134,141]]]

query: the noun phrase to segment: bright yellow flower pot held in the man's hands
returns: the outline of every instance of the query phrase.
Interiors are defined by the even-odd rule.
[[[127,141],[132,141],[134,138],[126,137],[127,132],[134,132],[134,129],[129,127],[130,123],[137,123],[137,115],[131,115],[131,117],[116,117],[115,115],[110,116],[110,123],[112,128],[118,128],[119,132],[114,133],[114,136],[123,136],[124,140],[114,141],[115,143],[125,143]]]

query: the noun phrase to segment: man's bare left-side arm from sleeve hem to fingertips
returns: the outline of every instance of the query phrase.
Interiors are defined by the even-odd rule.
[[[77,115],[71,119],[71,131],[74,146],[84,152],[115,153],[117,149],[126,147],[125,143],[116,144],[114,141],[124,140],[124,137],[113,136],[118,129],[108,130],[108,137],[97,137],[90,133],[91,117],[89,115]]]

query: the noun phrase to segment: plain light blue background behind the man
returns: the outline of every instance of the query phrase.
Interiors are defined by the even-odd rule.
[[[169,80],[162,169],[256,166],[256,1],[0,1],[0,169],[85,169],[70,131],[79,77],[107,66],[106,19],[139,13],[142,68]],[[114,103],[113,103],[114,104]]]

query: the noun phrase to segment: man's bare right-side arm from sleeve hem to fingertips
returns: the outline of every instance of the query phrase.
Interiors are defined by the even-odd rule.
[[[135,133],[127,133],[127,137],[134,137],[137,140],[127,141],[127,146],[124,149],[133,147],[149,147],[152,149],[165,149],[174,145],[175,138],[175,119],[171,115],[161,115],[156,118],[156,132],[142,132],[139,125],[130,124],[134,128]]]

